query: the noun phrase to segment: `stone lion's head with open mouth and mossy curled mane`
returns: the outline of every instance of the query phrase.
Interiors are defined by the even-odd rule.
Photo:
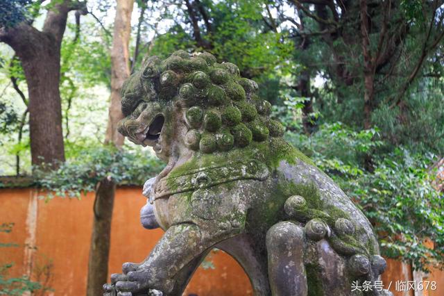
[[[268,117],[270,103],[256,91],[236,65],[216,63],[212,54],[153,56],[123,85],[119,132],[166,161],[184,151],[228,151],[282,136],[282,124]]]

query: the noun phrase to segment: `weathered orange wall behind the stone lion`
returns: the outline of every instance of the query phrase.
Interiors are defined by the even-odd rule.
[[[119,188],[114,203],[112,220],[110,274],[121,271],[124,262],[140,262],[162,236],[160,229],[146,230],[139,224],[139,209],[146,199],[141,188]],[[48,285],[53,291],[45,295],[85,295],[89,239],[92,227],[94,194],[80,200],[56,197],[50,202],[39,199],[36,190],[1,189],[0,224],[14,222],[11,233],[0,233],[0,242],[16,242],[19,247],[1,249],[0,265],[14,262],[12,273],[32,274],[45,281],[44,267],[50,268]],[[185,295],[244,296],[252,295],[250,282],[243,270],[224,252],[212,252],[206,259],[213,269],[199,268],[187,287]],[[384,273],[387,286],[395,296],[396,280],[411,280],[409,265],[388,260]],[[430,296],[444,295],[444,272],[432,272],[427,279],[438,281],[438,290],[429,290]]]

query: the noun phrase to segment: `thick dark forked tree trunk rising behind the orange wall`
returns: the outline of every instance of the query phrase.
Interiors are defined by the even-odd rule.
[[[42,31],[26,22],[0,29],[5,42],[22,62],[29,97],[29,129],[33,165],[65,161],[62,135],[62,108],[59,91],[60,47],[68,13],[85,3],[52,1]]]

